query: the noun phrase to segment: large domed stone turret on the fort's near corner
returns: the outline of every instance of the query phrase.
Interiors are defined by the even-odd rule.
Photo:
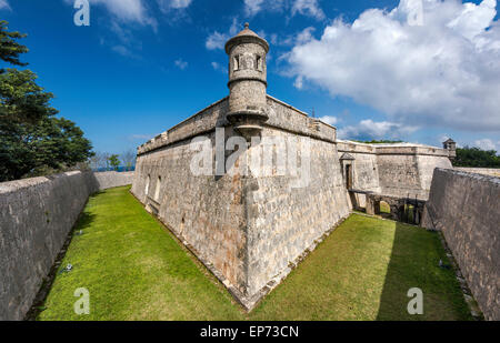
[[[226,43],[229,56],[228,121],[244,138],[258,135],[267,114],[268,42],[244,24],[244,30]]]

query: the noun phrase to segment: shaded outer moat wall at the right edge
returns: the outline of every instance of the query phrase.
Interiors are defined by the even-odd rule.
[[[436,169],[422,226],[440,230],[488,320],[500,320],[500,179]]]

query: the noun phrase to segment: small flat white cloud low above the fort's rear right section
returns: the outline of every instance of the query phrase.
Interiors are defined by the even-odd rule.
[[[362,120],[358,125],[348,125],[338,131],[340,139],[359,140],[381,140],[381,139],[402,139],[417,131],[416,127],[406,127],[401,123],[381,121],[374,122],[371,119]]]

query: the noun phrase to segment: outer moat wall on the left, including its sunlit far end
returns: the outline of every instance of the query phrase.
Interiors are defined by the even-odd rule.
[[[0,320],[22,320],[90,194],[130,173],[67,172],[0,183]]]

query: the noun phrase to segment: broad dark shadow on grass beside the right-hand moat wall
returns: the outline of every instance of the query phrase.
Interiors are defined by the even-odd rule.
[[[397,223],[377,315],[379,321],[470,320],[468,306],[437,233]],[[422,290],[423,314],[408,313],[412,287]]]

